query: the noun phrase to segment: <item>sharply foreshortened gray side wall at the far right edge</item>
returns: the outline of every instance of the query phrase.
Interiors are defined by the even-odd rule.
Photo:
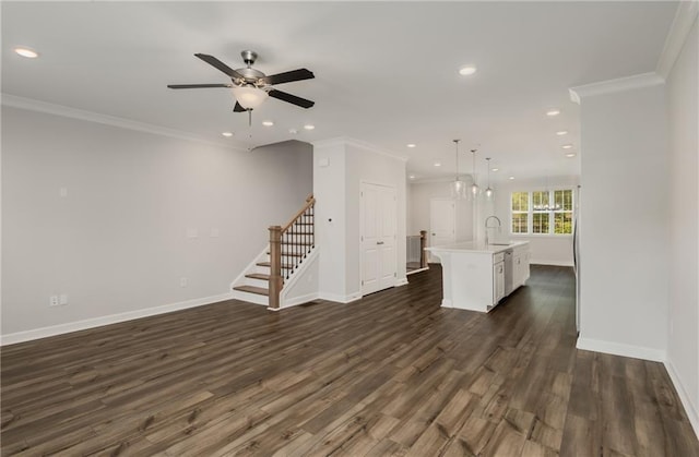
[[[667,361],[699,430],[699,125],[697,21],[667,80],[670,328]],[[675,383],[677,386],[677,383]],[[687,405],[688,402],[688,405]]]

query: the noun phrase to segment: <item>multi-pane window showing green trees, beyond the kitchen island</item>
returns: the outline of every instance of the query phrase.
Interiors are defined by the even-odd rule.
[[[512,233],[572,233],[572,190],[512,192]]]

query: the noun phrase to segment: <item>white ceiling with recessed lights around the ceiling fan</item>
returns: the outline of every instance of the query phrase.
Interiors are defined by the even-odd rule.
[[[3,2],[2,93],[126,118],[247,147],[348,136],[408,157],[418,179],[453,176],[453,139],[516,176],[576,176],[579,107],[568,88],[655,70],[676,2]],[[28,46],[38,59],[12,52]],[[266,74],[307,68],[316,79],[277,86],[305,110],[270,98],[232,112],[227,83],[193,57]],[[475,64],[475,75],[458,74]],[[545,116],[557,107],[561,115]],[[275,125],[264,128],[262,120]],[[312,123],[316,129],[305,131]],[[289,129],[298,129],[294,135]],[[557,136],[557,130],[569,135]],[[221,132],[232,131],[233,139]],[[407,148],[407,143],[417,147]],[[433,166],[441,161],[440,168]]]

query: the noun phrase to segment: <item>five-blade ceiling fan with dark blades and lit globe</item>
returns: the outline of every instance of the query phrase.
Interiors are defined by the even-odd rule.
[[[271,74],[266,76],[259,70],[254,70],[252,64],[258,58],[258,53],[250,50],[240,52],[246,68],[233,70],[213,56],[205,53],[196,53],[198,58],[224,72],[230,77],[228,84],[168,84],[169,88],[209,88],[209,87],[228,87],[236,97],[236,106],[233,108],[235,112],[251,111],[259,107],[268,96],[280,100],[299,106],[301,108],[310,108],[315,101],[296,95],[272,88],[276,84],[292,83],[294,81],[310,80],[316,77],[313,73],[307,69],[292,70],[284,73]]]

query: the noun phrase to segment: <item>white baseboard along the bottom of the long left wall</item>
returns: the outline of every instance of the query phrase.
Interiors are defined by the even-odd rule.
[[[146,308],[143,310],[129,311],[126,313],[110,314],[100,317],[87,318],[84,321],[69,322],[67,324],[51,325],[49,327],[35,328],[32,330],[16,332],[13,334],[2,335],[0,337],[0,346],[14,345],[16,342],[31,341],[33,339],[47,338],[49,336],[68,334],[71,332],[86,330],[88,328],[102,327],[103,325],[118,324],[120,322],[133,321],[134,318],[147,317],[156,314],[170,313],[173,311],[186,310],[188,308],[202,306],[204,304],[216,303],[224,300],[230,300],[230,293],[222,293],[220,296],[204,297],[180,301],[177,303],[164,304],[161,306]]]

